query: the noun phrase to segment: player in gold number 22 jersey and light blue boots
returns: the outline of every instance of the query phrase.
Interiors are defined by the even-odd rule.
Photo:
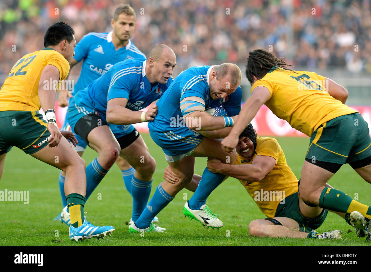
[[[59,131],[55,117],[55,81],[65,80],[75,55],[75,31],[59,22],[48,28],[43,50],[23,56],[12,68],[0,90],[0,178],[4,160],[13,146],[66,172],[65,192],[70,209],[70,239],[111,235],[112,226],[94,226],[84,219],[85,162],[76,146],[75,134]],[[47,122],[39,114],[45,109]],[[64,136],[64,137],[62,137]],[[58,158],[58,161],[56,160]]]

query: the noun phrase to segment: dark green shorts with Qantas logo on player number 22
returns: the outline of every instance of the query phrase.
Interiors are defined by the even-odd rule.
[[[13,146],[33,154],[48,145],[50,132],[38,111],[0,111],[0,155]]]

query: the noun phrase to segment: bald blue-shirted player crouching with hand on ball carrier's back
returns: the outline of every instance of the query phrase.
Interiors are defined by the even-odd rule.
[[[173,81],[173,50],[157,44],[148,59],[116,63],[71,98],[67,120],[72,131],[99,153],[86,167],[86,199],[120,156],[135,169],[132,177],[132,219],[138,219],[151,193],[156,163],[131,124],[153,121],[157,106],[139,111],[160,98]],[[110,124],[108,124],[110,123]],[[156,228],[161,231],[161,228]]]

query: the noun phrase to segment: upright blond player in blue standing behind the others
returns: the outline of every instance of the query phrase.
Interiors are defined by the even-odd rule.
[[[85,35],[76,45],[76,55],[70,67],[72,68],[80,61],[83,61],[81,74],[72,93],[68,91],[59,92],[58,103],[61,107],[68,105],[68,95],[72,97],[72,94],[75,95],[78,91],[88,87],[93,80],[105,74],[113,64],[129,58],[142,58],[145,60],[145,55],[130,41],[135,27],[135,19],[134,9],[127,4],[122,4],[116,8],[114,18],[111,20],[111,26],[113,28],[111,32],[91,32]],[[62,128],[63,130],[70,130],[67,118]],[[82,156],[86,148],[86,143],[78,135],[76,135],[76,137],[78,139],[78,144],[75,150]],[[131,194],[131,179],[135,169],[121,157],[118,158],[116,163],[121,169],[125,187]],[[59,175],[59,189],[63,207],[67,205],[64,182],[65,173],[61,171]],[[62,222],[66,223],[63,213],[56,219],[61,219]]]

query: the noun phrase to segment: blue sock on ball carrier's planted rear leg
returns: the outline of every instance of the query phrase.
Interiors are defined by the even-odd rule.
[[[138,220],[134,221],[135,226],[140,229],[148,228],[151,225],[152,219],[173,199],[174,197],[165,192],[161,184],[158,185],[153,197],[148,202],[147,208],[144,209]]]

